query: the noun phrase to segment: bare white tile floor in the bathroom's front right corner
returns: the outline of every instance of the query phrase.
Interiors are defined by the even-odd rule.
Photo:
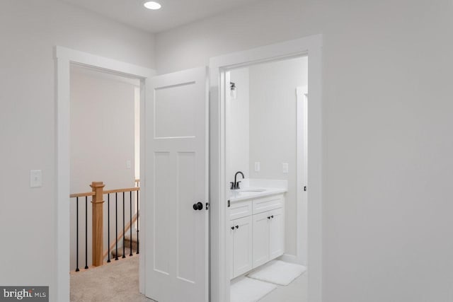
[[[306,302],[307,272],[300,275],[287,286],[277,286],[259,302]]]

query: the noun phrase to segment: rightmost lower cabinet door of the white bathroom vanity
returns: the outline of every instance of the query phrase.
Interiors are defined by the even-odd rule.
[[[283,255],[285,250],[285,216],[283,209],[275,209],[268,212],[269,223],[269,253],[270,260]]]

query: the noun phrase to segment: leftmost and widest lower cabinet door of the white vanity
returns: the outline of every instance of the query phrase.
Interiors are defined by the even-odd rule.
[[[252,216],[231,220],[233,231],[233,278],[252,269]]]

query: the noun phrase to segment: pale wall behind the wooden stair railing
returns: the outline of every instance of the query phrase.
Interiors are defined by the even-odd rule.
[[[93,181],[104,190],[134,187],[134,98],[139,81],[110,76],[71,66],[71,167],[70,192],[89,192]],[[130,161],[130,168],[127,168]],[[121,194],[120,194],[121,195]],[[112,196],[113,197],[113,196]],[[129,195],[125,197],[129,209]],[[107,201],[105,197],[105,201]],[[91,198],[90,200],[91,201]],[[113,201],[113,200],[112,200]],[[79,231],[84,231],[84,200],[79,205]],[[134,199],[132,199],[134,204]],[[107,202],[103,204],[105,217]],[[122,221],[122,196],[118,208]],[[115,215],[113,203],[110,214]],[[126,220],[130,218],[125,211]],[[110,220],[110,243],[115,240],[114,216]],[[71,270],[76,268],[76,200],[71,199]],[[88,265],[91,265],[91,204],[88,204]],[[107,248],[107,218],[104,248]],[[122,223],[120,223],[122,228]],[[121,244],[122,246],[122,244]],[[79,237],[79,264],[84,263],[84,236]],[[81,261],[82,260],[82,261]]]

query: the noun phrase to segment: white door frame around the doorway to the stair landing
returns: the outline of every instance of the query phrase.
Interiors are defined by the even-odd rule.
[[[55,132],[55,174],[56,174],[56,190],[55,190],[55,229],[57,230],[57,238],[55,238],[57,259],[55,260],[55,284],[56,295],[55,301],[69,301],[69,124],[70,124],[70,66],[78,64],[88,66],[99,71],[117,74],[120,76],[132,77],[140,80],[140,197],[145,199],[144,178],[145,172],[145,129],[144,129],[144,113],[146,105],[146,86],[147,79],[156,74],[154,69],[137,66],[125,62],[120,62],[115,59],[71,50],[66,47],[54,47],[55,59],[55,119],[57,131]],[[146,204],[142,202],[140,211],[144,213]],[[144,239],[144,231],[146,230],[146,217],[140,214],[140,242]],[[140,245],[143,250],[139,260],[139,290],[144,293],[144,244]]]

